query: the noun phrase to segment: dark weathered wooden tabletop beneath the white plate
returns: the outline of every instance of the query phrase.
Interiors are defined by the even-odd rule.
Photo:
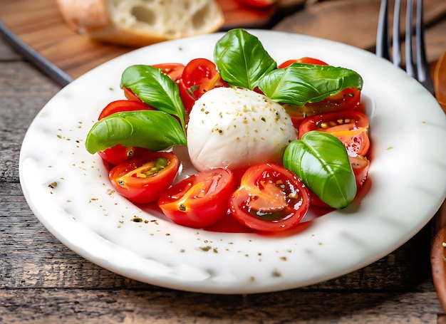
[[[276,293],[219,296],[174,291],[85,261],[39,223],[19,184],[19,152],[27,127],[60,89],[0,38],[0,323],[444,320],[430,268],[432,224],[361,270]]]

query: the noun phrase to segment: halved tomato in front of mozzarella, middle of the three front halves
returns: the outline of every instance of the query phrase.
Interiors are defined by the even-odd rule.
[[[217,223],[228,211],[234,176],[224,168],[193,174],[167,189],[158,205],[173,222],[194,228]]]

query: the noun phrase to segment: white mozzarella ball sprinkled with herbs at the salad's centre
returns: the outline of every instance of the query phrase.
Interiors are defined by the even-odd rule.
[[[297,133],[279,103],[244,88],[214,88],[192,108],[187,148],[198,171],[281,163]]]

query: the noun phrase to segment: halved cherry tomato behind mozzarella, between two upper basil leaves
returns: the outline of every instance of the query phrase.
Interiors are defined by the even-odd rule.
[[[180,80],[178,80],[178,86],[185,110],[190,113],[195,100],[205,92],[229,85],[220,78],[220,73],[218,73],[214,62],[206,58],[195,58],[187,63]]]

